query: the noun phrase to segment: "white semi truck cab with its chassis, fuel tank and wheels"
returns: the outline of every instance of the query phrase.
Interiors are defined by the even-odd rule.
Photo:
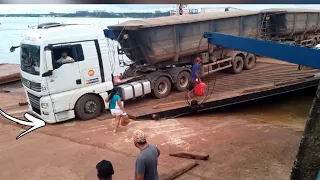
[[[75,117],[93,119],[108,107],[104,100],[115,86],[113,66],[119,55],[117,41],[107,38],[106,32],[110,31],[105,30],[99,25],[48,23],[24,33],[20,44],[21,77],[33,114],[47,123],[56,123]],[[57,63],[62,52],[68,52],[75,62]],[[232,69],[233,64],[239,65],[232,63],[234,59],[238,61],[239,56],[203,65],[202,72],[205,75]],[[227,64],[212,69],[220,62]],[[149,68],[143,75],[122,80],[118,86],[125,101],[150,93],[164,98],[172,88],[184,91],[189,79],[187,66],[153,71]]]

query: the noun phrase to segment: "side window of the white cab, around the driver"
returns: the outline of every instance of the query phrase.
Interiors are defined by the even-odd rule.
[[[84,54],[81,44],[74,44],[68,46],[57,46],[52,49],[53,57],[52,57],[52,65],[54,69],[58,69],[63,64],[59,63],[59,59],[61,58],[62,52],[66,52],[69,57],[75,60],[74,63],[80,62],[84,60]]]

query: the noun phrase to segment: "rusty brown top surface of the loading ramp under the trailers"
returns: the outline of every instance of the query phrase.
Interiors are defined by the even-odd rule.
[[[317,73],[320,73],[320,70],[299,71],[297,65],[270,62],[258,62],[254,69],[243,71],[241,74],[216,73],[205,79],[207,84],[212,84],[213,78],[217,77],[215,90],[207,102],[299,83],[301,79],[310,79]],[[125,106],[129,113],[142,116],[186,107],[188,104],[185,101],[185,92],[172,92],[164,99],[145,97],[128,101]]]

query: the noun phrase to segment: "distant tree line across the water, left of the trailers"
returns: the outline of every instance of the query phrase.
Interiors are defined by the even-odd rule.
[[[0,17],[97,17],[97,18],[151,18],[169,16],[170,12],[127,12],[127,13],[114,13],[114,12],[87,12],[81,11],[76,13],[49,13],[49,14],[0,14]]]

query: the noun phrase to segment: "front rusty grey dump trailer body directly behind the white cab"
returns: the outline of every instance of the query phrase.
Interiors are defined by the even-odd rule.
[[[227,13],[223,12],[222,14]],[[235,15],[234,12],[232,12]],[[147,59],[149,64],[162,63],[164,61],[171,61],[175,57],[181,58],[196,53],[205,52],[208,50],[206,39],[202,38],[203,32],[221,32],[232,35],[246,36],[256,38],[259,33],[258,19],[259,15],[252,12],[242,13],[243,16],[234,16],[233,18],[213,18],[212,14],[201,14],[199,16],[212,17],[210,20],[200,21],[200,18],[193,18],[194,23],[182,23],[171,26],[155,26],[152,28],[143,28],[139,31],[127,31],[131,45],[125,44],[120,40],[123,48],[133,48],[130,53],[133,55],[131,60],[138,64],[142,60]],[[221,13],[219,13],[221,14]],[[198,15],[186,15],[193,17]],[[222,15],[220,15],[221,17]],[[178,16],[174,18],[185,18],[185,16]],[[226,16],[223,16],[226,17]],[[170,17],[171,18],[171,17]],[[162,17],[162,19],[170,19]],[[214,20],[215,19],[215,20]],[[157,18],[152,22],[156,23]],[[204,18],[202,20],[205,20]],[[148,20],[141,20],[148,21]],[[112,28],[111,28],[112,29]],[[115,30],[116,36],[122,30]],[[145,52],[142,52],[145,51]],[[146,56],[145,56],[146,55]],[[187,59],[188,63],[192,59]]]

